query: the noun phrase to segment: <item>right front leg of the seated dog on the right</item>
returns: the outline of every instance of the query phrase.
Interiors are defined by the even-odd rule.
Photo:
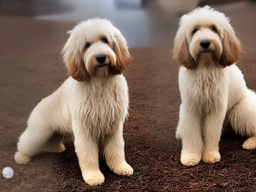
[[[222,124],[225,119],[227,103],[215,101],[216,110],[211,110],[205,118],[203,125],[203,135],[204,135],[204,153],[202,156],[202,161],[206,163],[215,163],[220,160],[219,153],[219,141],[221,136]]]

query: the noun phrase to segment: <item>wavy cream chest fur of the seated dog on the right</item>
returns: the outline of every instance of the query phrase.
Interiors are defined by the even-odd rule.
[[[203,111],[217,110],[222,101],[219,101],[227,85],[225,69],[216,66],[199,65],[197,70],[189,70],[186,80],[186,89],[189,99],[193,100],[194,106]]]

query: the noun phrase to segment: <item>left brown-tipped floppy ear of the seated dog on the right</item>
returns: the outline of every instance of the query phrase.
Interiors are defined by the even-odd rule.
[[[188,41],[184,33],[176,34],[174,39],[173,59],[179,61],[180,65],[187,69],[195,69],[197,63],[189,52]]]

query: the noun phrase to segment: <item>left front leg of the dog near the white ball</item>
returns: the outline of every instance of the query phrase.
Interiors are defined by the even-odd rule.
[[[99,145],[87,127],[72,122],[74,145],[84,181],[88,185],[100,185],[104,176],[99,169]]]

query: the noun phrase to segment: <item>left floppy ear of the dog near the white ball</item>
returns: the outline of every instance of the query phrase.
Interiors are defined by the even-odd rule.
[[[72,31],[68,33],[72,33]],[[90,80],[90,74],[86,70],[79,46],[76,45],[76,40],[73,39],[72,34],[62,50],[62,54],[68,75],[79,82]]]

